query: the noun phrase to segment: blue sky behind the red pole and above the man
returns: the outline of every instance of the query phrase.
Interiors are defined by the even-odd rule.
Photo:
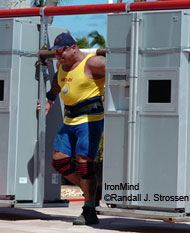
[[[64,0],[63,2],[63,6],[108,3],[107,0]],[[114,0],[113,2],[116,3],[117,0]],[[123,2],[130,1],[123,0]],[[106,14],[56,16],[53,21],[53,26],[67,28],[75,39],[87,36],[94,30],[97,30],[106,39],[106,24]]]

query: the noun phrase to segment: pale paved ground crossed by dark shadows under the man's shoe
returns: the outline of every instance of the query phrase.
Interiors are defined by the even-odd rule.
[[[94,226],[73,226],[83,202],[69,207],[0,208],[0,233],[190,233],[190,223],[165,223],[101,215]]]

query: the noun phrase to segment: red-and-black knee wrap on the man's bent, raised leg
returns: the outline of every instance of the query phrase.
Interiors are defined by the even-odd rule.
[[[63,176],[68,176],[75,171],[75,164],[71,162],[71,158],[52,160],[54,169]]]

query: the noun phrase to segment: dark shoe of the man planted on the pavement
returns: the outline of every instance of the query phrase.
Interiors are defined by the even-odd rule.
[[[95,208],[89,206],[82,208],[82,214],[73,221],[73,225],[93,225],[99,223]]]

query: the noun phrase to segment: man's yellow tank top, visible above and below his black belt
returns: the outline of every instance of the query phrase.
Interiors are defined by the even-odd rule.
[[[89,79],[84,73],[84,67],[88,58],[94,54],[88,54],[74,69],[66,72],[59,66],[58,84],[61,87],[61,98],[65,105],[75,105],[83,100],[104,94],[105,78]],[[69,125],[103,119],[103,114],[85,115],[75,118],[65,117],[64,123]]]

